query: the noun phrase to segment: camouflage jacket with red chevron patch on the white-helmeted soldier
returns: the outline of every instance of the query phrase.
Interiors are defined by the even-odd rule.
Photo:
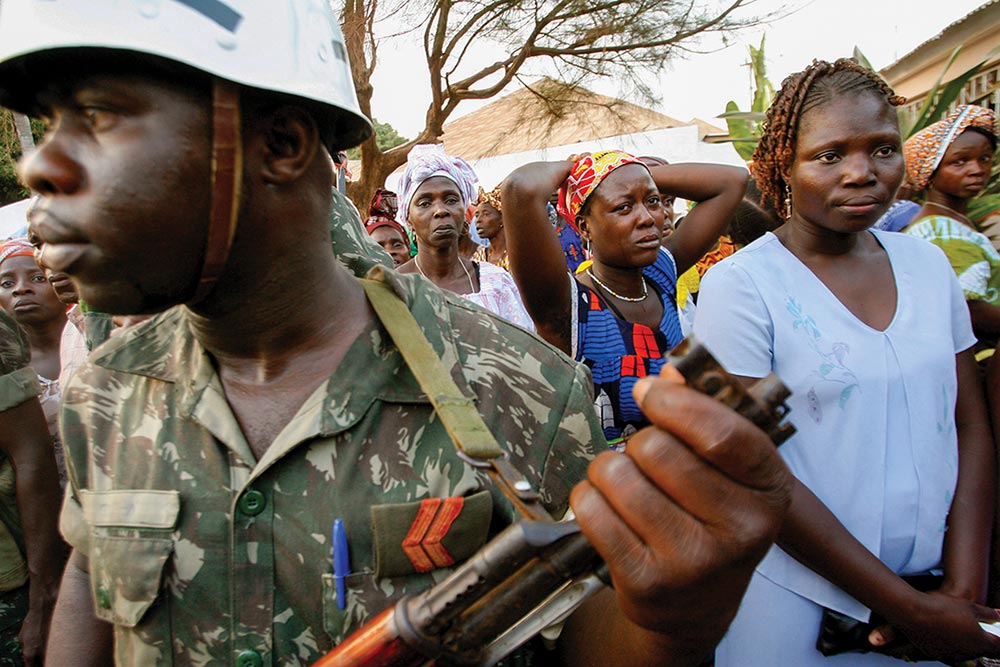
[[[603,442],[586,369],[419,276],[387,274],[512,463],[562,515]],[[308,664],[514,518],[458,458],[377,322],[260,461],[180,308],[91,354],[63,393],[62,428],[61,526],[90,558],[119,665]],[[343,610],[336,518],[352,566]]]

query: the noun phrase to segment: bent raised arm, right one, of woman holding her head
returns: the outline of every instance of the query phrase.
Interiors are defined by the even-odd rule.
[[[649,172],[660,192],[697,202],[667,239],[680,275],[719,240],[743,199],[749,173],[721,164],[668,164],[650,167]]]

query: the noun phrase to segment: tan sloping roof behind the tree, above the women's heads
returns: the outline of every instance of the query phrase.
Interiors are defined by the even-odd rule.
[[[441,141],[448,153],[477,160],[692,124],[702,133],[722,131],[705,121],[685,123],[580,86],[542,79],[445,124]]]

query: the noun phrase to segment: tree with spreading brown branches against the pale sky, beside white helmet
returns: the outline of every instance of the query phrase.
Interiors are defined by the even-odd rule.
[[[367,206],[410,148],[441,137],[462,102],[489,99],[515,80],[523,83],[529,64],[544,63],[575,85],[615,76],[654,97],[644,74],[690,51],[701,36],[718,33],[725,39],[763,20],[742,15],[752,0],[711,4],[716,1],[343,0],[344,37],[361,111],[372,115],[379,48],[399,37],[377,34],[387,17],[422,26],[431,88],[424,129],[415,138],[388,150],[374,138],[361,145],[361,180],[349,184],[348,195],[359,208]],[[497,54],[495,62],[474,64],[470,54],[482,53]]]

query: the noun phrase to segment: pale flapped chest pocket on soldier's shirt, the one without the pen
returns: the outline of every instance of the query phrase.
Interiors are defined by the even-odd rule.
[[[81,491],[90,530],[90,586],[98,618],[134,628],[156,601],[173,552],[177,491]]]

